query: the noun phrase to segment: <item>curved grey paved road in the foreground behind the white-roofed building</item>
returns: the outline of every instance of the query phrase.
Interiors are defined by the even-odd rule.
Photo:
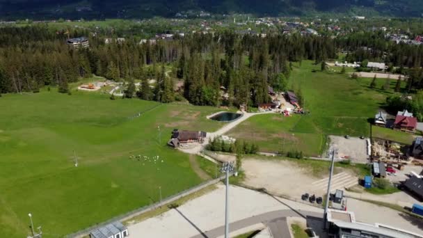
[[[289,229],[286,220],[288,216],[313,216],[322,218],[323,213],[305,211],[295,212],[291,209],[277,210],[273,212],[266,212],[258,216],[251,216],[247,219],[242,219],[240,221],[230,223],[229,230],[231,232],[234,230],[239,230],[241,228],[246,228],[250,225],[255,225],[257,223],[265,223],[266,225],[269,225],[269,228],[271,229],[271,233],[274,238],[290,238],[291,235],[289,234]],[[199,235],[195,235],[191,238],[215,238],[224,234],[225,226],[222,225],[218,228],[214,228],[213,230],[201,232]]]

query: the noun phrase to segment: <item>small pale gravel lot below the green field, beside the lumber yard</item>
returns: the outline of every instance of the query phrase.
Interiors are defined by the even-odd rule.
[[[351,161],[358,164],[367,163],[366,139],[356,137],[344,138],[344,136],[329,136],[329,138],[330,149],[336,148],[338,150],[338,157],[349,157]]]

